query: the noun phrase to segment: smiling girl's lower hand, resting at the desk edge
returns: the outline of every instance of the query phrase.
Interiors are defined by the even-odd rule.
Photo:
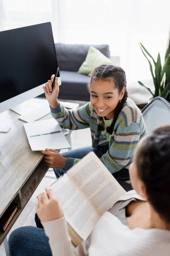
[[[46,149],[41,151],[42,154],[45,154],[44,161],[46,166],[50,168],[64,168],[67,158],[59,154],[58,151],[54,149]]]

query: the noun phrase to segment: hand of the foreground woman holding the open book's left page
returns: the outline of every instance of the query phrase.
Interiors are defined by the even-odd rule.
[[[53,221],[64,216],[57,197],[51,187],[46,188],[45,191],[38,196],[36,210],[40,221]]]

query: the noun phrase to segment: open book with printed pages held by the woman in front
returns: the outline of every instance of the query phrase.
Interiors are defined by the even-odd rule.
[[[100,216],[125,193],[94,152],[51,186],[64,211],[74,245],[88,238]]]

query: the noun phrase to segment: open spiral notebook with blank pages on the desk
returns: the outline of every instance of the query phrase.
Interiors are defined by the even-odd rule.
[[[61,126],[54,118],[28,122],[24,124],[24,128],[32,151],[71,148]]]

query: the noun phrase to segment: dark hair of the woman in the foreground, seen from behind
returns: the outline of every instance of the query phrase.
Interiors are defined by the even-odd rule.
[[[136,163],[148,201],[170,228],[170,125],[157,128],[144,139]]]

